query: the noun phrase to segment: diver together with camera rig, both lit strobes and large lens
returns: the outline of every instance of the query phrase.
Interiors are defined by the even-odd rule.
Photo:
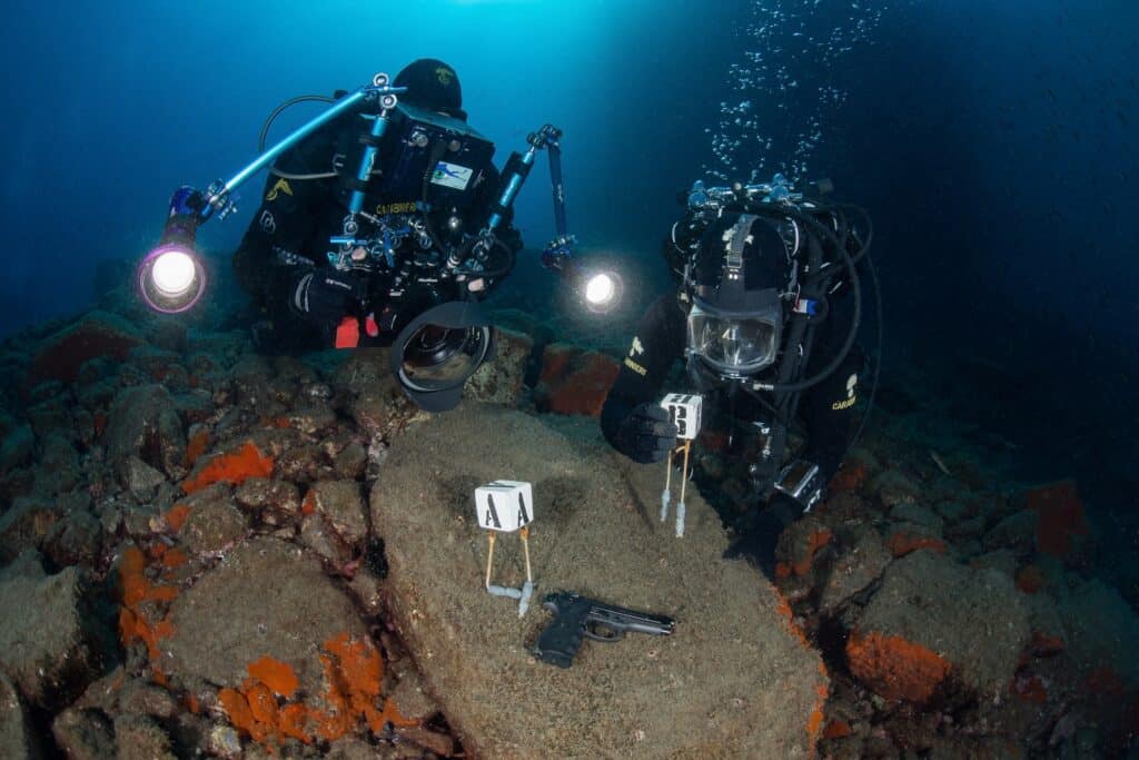
[[[297,103],[327,107],[265,146],[273,120]],[[459,403],[466,381],[494,353],[481,305],[510,273],[522,238],[514,202],[546,150],[557,235],[546,269],[591,309],[620,296],[615,275],[573,255],[562,181],[562,130],[543,124],[511,152],[501,173],[494,144],[467,124],[454,70],[423,58],[393,80],[384,72],[352,92],[298,96],[261,130],[259,155],[205,190],[171,195],[162,238],[139,261],[139,295],[179,314],[207,291],[197,231],[237,210],[236,190],[262,169],[269,179],[232,265],[260,311],[254,342],[274,351],[391,346],[392,373],[421,409]]]

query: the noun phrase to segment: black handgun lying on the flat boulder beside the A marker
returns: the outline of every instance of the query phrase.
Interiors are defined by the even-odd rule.
[[[573,591],[548,594],[542,606],[554,613],[554,620],[538,637],[533,653],[558,668],[573,664],[582,638],[617,641],[625,631],[669,636],[675,626],[672,618],[614,607]]]

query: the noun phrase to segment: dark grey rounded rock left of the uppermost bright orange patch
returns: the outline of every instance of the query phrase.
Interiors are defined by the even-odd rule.
[[[126,482],[126,463],[138,457],[172,480],[186,474],[186,434],[174,400],[162,385],[137,385],[115,395],[104,434],[107,457]]]

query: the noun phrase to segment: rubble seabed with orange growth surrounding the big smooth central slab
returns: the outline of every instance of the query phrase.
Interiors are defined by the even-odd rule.
[[[462,414],[596,416],[616,360],[506,317]],[[399,553],[376,516],[401,438],[431,417],[382,351],[262,356],[223,324],[108,297],[3,344],[0,757],[478,754],[478,726],[441,706],[469,700],[439,693],[423,637],[396,624],[426,613],[393,598]],[[715,431],[698,443],[695,482],[730,516],[746,477],[721,447]],[[1018,482],[1000,448],[894,398],[785,533],[770,612],[810,649],[802,685],[819,696],[788,757],[1133,752],[1134,586],[1079,485]],[[583,672],[600,656],[583,652]],[[756,692],[789,683],[763,676]],[[760,696],[690,714],[689,733]],[[621,738],[615,755],[638,754],[644,737]]]

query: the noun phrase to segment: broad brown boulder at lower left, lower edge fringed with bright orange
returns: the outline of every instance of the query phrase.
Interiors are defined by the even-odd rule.
[[[229,553],[174,599],[169,619],[174,631],[158,646],[171,678],[235,689],[251,663],[270,655],[295,672],[300,688],[320,694],[322,643],[342,632],[366,635],[320,563],[272,538]]]

